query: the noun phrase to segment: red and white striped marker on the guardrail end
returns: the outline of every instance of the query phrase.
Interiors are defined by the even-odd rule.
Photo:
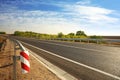
[[[21,68],[22,73],[28,73],[30,71],[30,63],[29,63],[29,52],[22,51],[20,52],[20,61],[21,61]]]

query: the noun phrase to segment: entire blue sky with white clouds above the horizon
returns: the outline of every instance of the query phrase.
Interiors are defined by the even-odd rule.
[[[0,31],[120,36],[120,0],[0,0]]]

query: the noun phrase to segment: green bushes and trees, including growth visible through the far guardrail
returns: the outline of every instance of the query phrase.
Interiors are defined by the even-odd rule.
[[[53,34],[42,34],[36,33],[32,31],[15,31],[14,36],[21,36],[21,37],[28,37],[28,38],[36,38],[36,39],[44,39],[44,40],[61,40],[61,41],[74,41],[74,42],[85,42],[85,43],[103,43],[101,36],[87,36],[84,31],[77,31],[75,33],[69,33],[67,35],[63,34],[62,32],[58,33],[57,35]]]

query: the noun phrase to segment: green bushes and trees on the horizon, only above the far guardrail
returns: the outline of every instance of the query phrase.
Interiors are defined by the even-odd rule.
[[[100,38],[98,36],[87,36],[84,31],[77,31],[76,33],[69,33],[67,35],[62,32],[57,35],[53,34],[42,34],[32,31],[15,31],[14,36],[29,37],[29,38],[38,38],[38,39],[55,39],[55,38]]]

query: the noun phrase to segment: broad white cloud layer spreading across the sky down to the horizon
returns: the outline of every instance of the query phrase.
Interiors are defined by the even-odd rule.
[[[8,27],[11,32],[14,30],[31,30],[40,33],[56,34],[63,32],[67,34],[84,30],[89,35],[118,34],[120,18],[111,16],[115,15],[115,11],[90,4],[90,0],[72,5],[52,3],[51,5],[61,7],[62,11],[60,12],[42,10],[14,10],[12,12],[11,10],[10,13],[0,14],[0,27],[2,29]]]

